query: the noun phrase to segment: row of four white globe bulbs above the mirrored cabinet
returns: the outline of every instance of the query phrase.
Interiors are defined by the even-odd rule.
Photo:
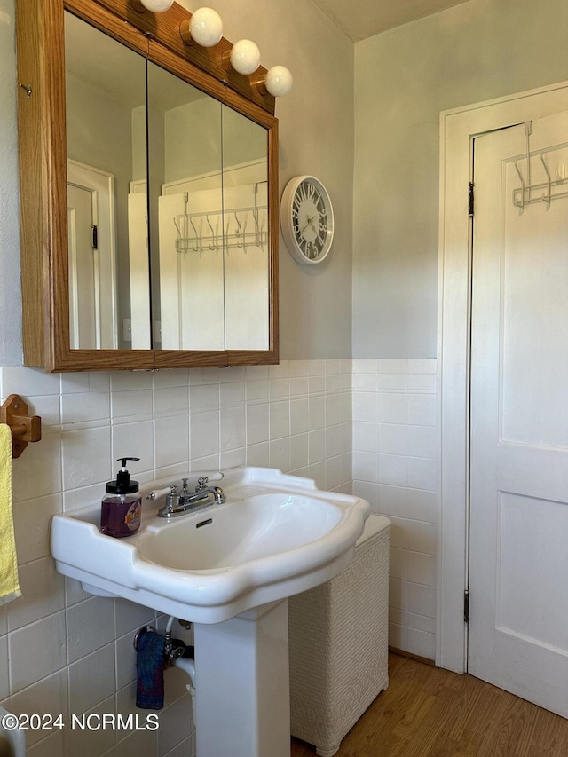
[[[174,0],[130,0],[130,4],[138,12],[163,13],[170,10]],[[215,47],[223,37],[223,21],[213,8],[198,8],[180,23],[179,34],[187,45],[197,43],[201,47]],[[225,71],[233,69],[244,76],[253,75],[260,67],[260,51],[252,40],[241,39],[231,50],[221,53],[220,64]],[[277,98],[288,94],[293,79],[287,67],[273,66],[253,83],[261,95],[268,93]]]

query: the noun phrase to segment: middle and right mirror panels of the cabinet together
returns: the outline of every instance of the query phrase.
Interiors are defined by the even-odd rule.
[[[156,342],[267,350],[266,130],[152,63],[148,103]]]

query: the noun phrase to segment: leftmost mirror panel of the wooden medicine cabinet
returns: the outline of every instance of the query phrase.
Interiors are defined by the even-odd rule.
[[[130,183],[146,182],[146,60],[70,13],[65,17],[69,206],[76,185],[89,186],[71,177],[70,167],[79,163],[84,171],[96,166],[91,176],[106,177],[109,193],[107,200],[97,190],[99,218],[91,222],[97,226],[91,233],[97,242],[97,249],[91,245],[92,301],[70,260],[71,346],[145,349],[151,346],[146,225],[129,222],[128,209]],[[142,201],[138,196],[135,202]],[[76,218],[75,210],[70,221]],[[71,236],[69,248],[78,249]],[[83,326],[85,319],[93,321],[90,327]]]

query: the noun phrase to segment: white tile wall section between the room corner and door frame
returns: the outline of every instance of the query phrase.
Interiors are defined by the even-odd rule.
[[[353,492],[392,521],[390,645],[434,659],[435,359],[353,361]]]

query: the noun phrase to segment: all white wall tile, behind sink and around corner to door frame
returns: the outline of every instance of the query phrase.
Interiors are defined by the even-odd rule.
[[[12,467],[24,595],[0,608],[0,704],[7,709],[66,719],[137,712],[132,637],[163,619],[63,580],[48,540],[51,516],[98,501],[123,454],[140,458],[130,470],[142,481],[250,464],[313,477],[321,488],[352,488],[392,521],[390,644],[434,657],[435,360],[297,360],[154,374],[0,368],[2,398],[12,392],[42,415],[43,439]],[[158,732],[30,731],[28,753],[191,757],[183,674],[169,671],[166,690]]]

